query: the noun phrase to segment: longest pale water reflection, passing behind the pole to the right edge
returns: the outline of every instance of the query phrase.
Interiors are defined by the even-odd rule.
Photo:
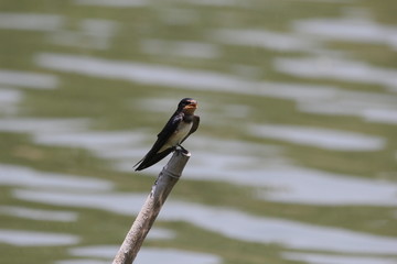
[[[14,196],[37,202],[103,209],[137,215],[146,198],[138,194],[82,194],[18,189]],[[169,200],[159,219],[186,221],[225,237],[259,243],[280,243],[289,249],[348,253],[394,254],[397,239],[311,226],[283,219],[253,217],[239,211]],[[211,219],[211,221],[208,221]]]

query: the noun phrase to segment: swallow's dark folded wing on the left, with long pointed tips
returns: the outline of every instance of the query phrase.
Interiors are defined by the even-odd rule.
[[[138,166],[136,170],[141,170],[147,168],[160,160],[164,158],[168,154],[172,152],[172,148],[168,148],[161,153],[158,153],[160,148],[165,144],[165,142],[170,139],[173,132],[175,132],[178,124],[182,121],[182,114],[174,113],[170,120],[167,122],[165,127],[158,134],[158,139],[154,142],[153,146],[150,148],[148,154],[139,161],[133,167]]]

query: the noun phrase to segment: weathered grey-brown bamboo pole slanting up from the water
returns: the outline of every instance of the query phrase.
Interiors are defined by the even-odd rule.
[[[169,163],[159,174],[151,193],[127,233],[112,264],[131,264],[133,262],[162,205],[181,177],[190,156],[189,152],[185,153],[182,150],[174,152]]]

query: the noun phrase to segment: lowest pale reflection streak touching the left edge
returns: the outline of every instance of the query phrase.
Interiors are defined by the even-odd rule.
[[[57,246],[77,244],[79,238],[62,233],[0,230],[0,242],[18,246]]]

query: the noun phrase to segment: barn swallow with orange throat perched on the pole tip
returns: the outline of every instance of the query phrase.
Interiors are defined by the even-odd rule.
[[[200,117],[194,116],[196,108],[197,101],[192,98],[183,98],[180,101],[176,111],[158,134],[158,139],[151,150],[133,166],[138,166],[136,170],[142,170],[158,163],[175,151],[176,146],[187,152],[181,144],[198,128]]]

